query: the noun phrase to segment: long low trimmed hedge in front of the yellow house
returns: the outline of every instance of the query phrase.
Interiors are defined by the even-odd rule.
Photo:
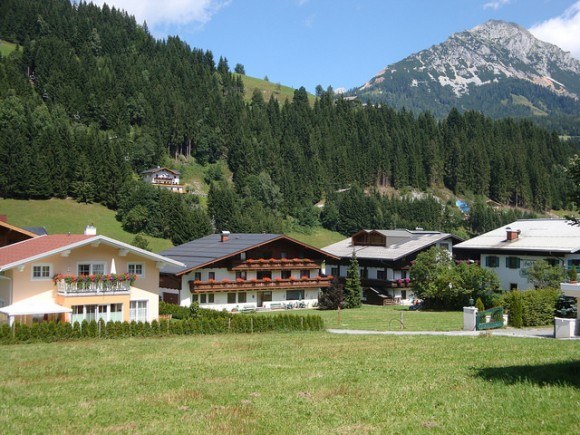
[[[211,310],[204,310],[211,311]],[[149,322],[17,323],[0,327],[0,344],[53,342],[76,339],[115,339],[126,337],[160,337],[168,335],[320,331],[324,322],[318,315],[279,314],[276,316],[239,315],[213,311],[208,315],[184,320]]]

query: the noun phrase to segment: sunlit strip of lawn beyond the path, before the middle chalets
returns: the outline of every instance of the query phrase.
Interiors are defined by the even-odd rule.
[[[281,310],[264,313],[304,314],[313,311]],[[340,322],[337,311],[314,311],[330,329],[364,329],[368,331],[459,331],[463,328],[460,311],[408,311],[403,306],[363,305],[354,310],[341,310]],[[401,329],[401,319],[404,329]]]

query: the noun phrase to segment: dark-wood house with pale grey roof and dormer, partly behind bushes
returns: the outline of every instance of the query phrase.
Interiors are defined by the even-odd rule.
[[[329,261],[333,276],[346,278],[353,252],[360,268],[363,302],[378,305],[411,304],[409,268],[418,254],[433,246],[453,253],[461,239],[452,234],[423,230],[361,230],[352,237],[322,248],[339,261]]]

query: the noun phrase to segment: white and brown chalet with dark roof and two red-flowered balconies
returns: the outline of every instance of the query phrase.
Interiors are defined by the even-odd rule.
[[[162,255],[185,264],[161,270],[163,300],[215,310],[313,307],[338,258],[279,234],[212,234]]]

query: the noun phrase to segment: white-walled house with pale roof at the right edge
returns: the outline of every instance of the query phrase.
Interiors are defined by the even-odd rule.
[[[533,288],[527,270],[537,260],[580,271],[580,227],[565,219],[521,219],[455,246],[458,259],[494,271],[504,290]]]

